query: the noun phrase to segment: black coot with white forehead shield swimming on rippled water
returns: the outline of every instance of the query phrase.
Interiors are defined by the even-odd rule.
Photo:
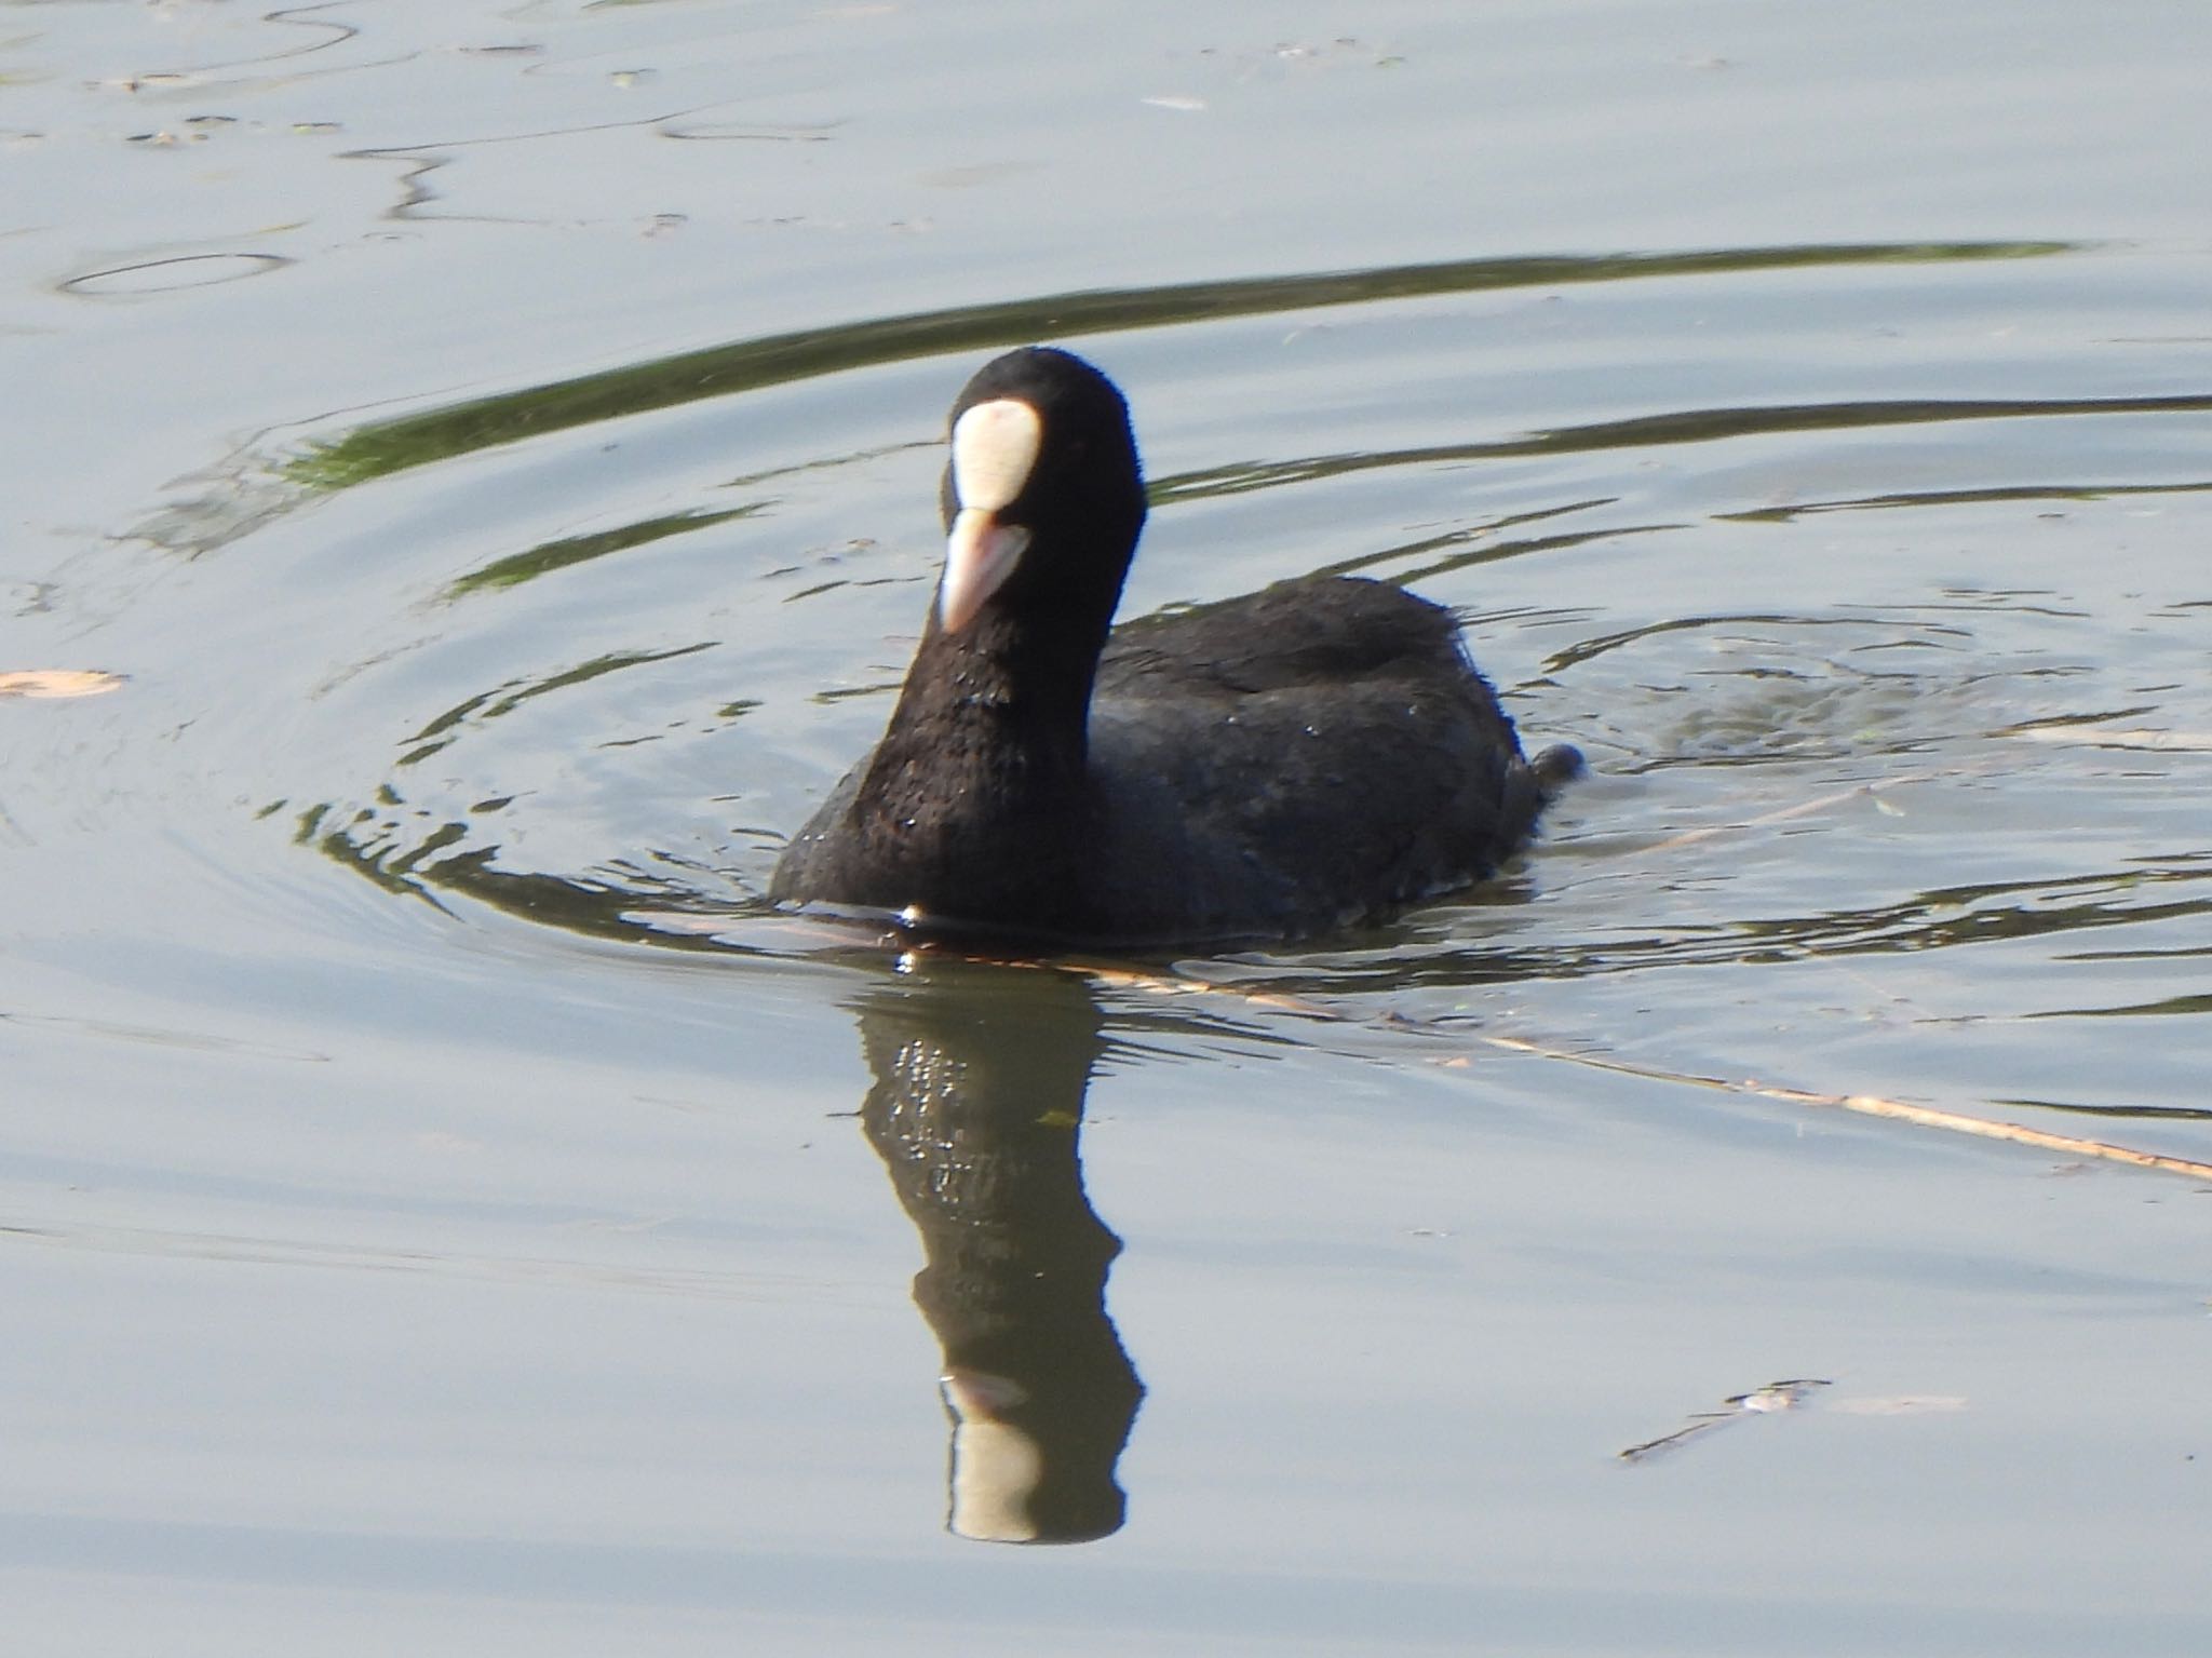
[[[1307,577],[1108,637],[1144,526],[1128,405],[1066,351],[951,411],[949,550],[891,725],[770,895],[1057,944],[1316,933],[1489,875],[1522,758],[1442,606]]]

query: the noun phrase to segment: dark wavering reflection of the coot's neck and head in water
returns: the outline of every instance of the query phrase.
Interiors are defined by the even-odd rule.
[[[991,1543],[1110,1536],[1144,1384],[1106,1315],[1121,1240],[1077,1154],[1097,1004],[1068,973],[914,955],[858,1012],[876,1079],[860,1121],[922,1234],[914,1304],[945,1349],[947,1525]]]

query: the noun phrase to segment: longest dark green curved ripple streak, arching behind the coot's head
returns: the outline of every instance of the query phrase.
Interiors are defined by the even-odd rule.
[[[1953,241],[1807,248],[1723,248],[1688,254],[1593,254],[1533,259],[1462,259],[1442,265],[1254,276],[1225,283],[1053,294],[1046,298],[969,305],[949,312],[889,316],[847,327],[772,334],[703,351],[586,374],[575,380],[473,398],[447,409],[356,427],[290,462],[292,482],[347,489],[431,460],[520,442],[549,431],[670,409],[701,398],[843,374],[878,363],[907,363],[949,351],[1022,345],[1037,338],[1113,334],[1223,316],[1267,316],[1385,298],[1475,294],[1506,287],[1564,287],[1639,276],[1798,270],[1836,265],[1940,265],[1978,259],[2042,259],[2073,252],[2066,241]]]

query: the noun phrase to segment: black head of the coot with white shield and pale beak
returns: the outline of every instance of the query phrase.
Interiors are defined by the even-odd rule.
[[[1079,356],[1031,345],[953,402],[945,634],[1060,634],[1097,654],[1144,528],[1128,405]]]

